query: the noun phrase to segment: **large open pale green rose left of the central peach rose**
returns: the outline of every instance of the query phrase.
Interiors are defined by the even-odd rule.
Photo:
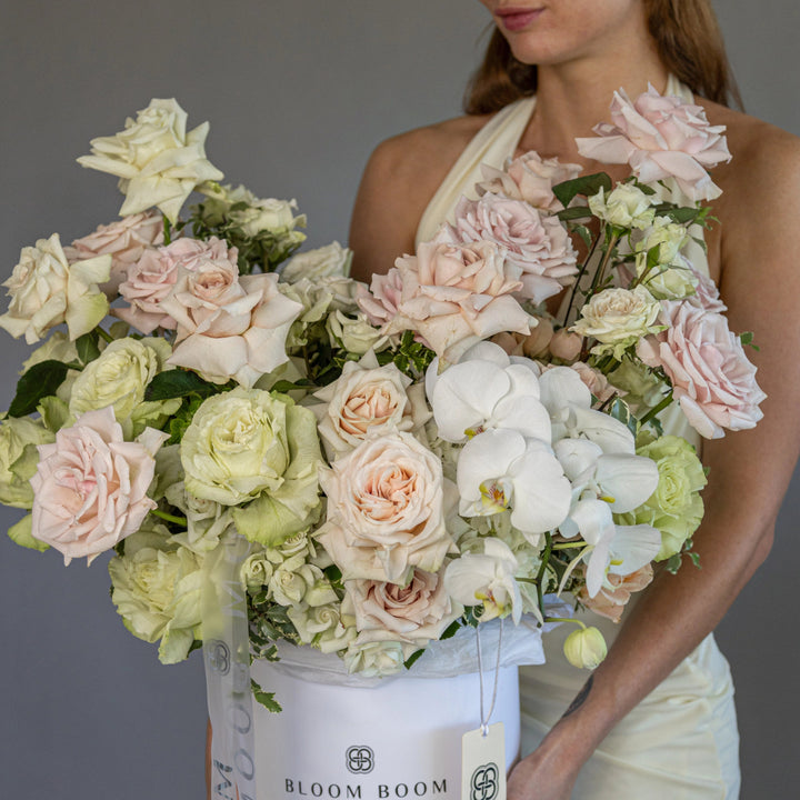
[[[238,388],[203,402],[183,434],[186,488],[233,509],[250,541],[274,547],[308,529],[319,507],[317,420],[283,396]]]

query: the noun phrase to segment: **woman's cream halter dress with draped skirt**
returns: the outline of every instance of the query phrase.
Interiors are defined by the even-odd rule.
[[[670,77],[667,93],[691,101],[691,92]],[[507,106],[478,132],[426,208],[417,244],[451,221],[462,194],[476,198],[481,164],[501,168],[514,154],[533,113],[536,98]],[[690,254],[708,274],[702,248]],[[692,443],[699,437],[674,403],[662,417],[664,432]],[[687,567],[686,569],[690,569]],[[611,644],[619,626],[593,613],[580,616]],[[624,620],[624,616],[623,616]],[[588,673],[563,657],[563,624],[544,637],[547,663],[520,669],[522,756],[560,719]],[[573,800],[734,800],[739,797],[739,733],[728,662],[713,636],[700,646],[604,739],[581,770]]]

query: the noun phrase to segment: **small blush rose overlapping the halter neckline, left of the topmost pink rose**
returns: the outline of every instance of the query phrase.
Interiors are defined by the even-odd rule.
[[[512,200],[524,200],[544,211],[560,211],[563,206],[553,194],[552,188],[577,178],[581,169],[580,164],[561,163],[557,158],[542,159],[531,150],[509,160],[503,170],[483,164],[481,171],[486,180],[478,183],[476,189],[479,194],[504,194]]]

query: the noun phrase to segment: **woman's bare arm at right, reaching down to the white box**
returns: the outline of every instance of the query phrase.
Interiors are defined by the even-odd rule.
[[[513,771],[509,800],[568,800],[608,732],[713,630],[770,550],[800,448],[800,143],[760,126],[750,144],[731,149],[740,168],[729,168],[720,204],[721,291],[731,329],[756,333],[760,352],[749,356],[768,394],[764,418],[704,443],[701,569],[684,564],[653,580],[569,713]]]

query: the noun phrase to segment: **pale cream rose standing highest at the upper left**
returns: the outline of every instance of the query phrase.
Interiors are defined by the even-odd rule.
[[[120,133],[92,139],[91,156],[78,163],[120,179],[122,217],[156,206],[174,222],[197,187],[223,178],[206,158],[208,122],[188,133],[186,123],[187,113],[174,100],[151,100]]]

